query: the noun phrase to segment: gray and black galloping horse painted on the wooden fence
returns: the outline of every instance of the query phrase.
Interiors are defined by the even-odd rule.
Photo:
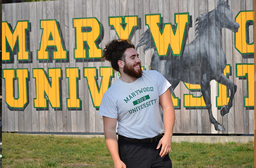
[[[230,91],[228,105],[222,106],[220,111],[221,116],[224,116],[233,106],[237,86],[223,73],[227,61],[222,48],[221,29],[227,28],[233,32],[238,32],[240,26],[233,20],[228,0],[219,0],[215,9],[201,15],[196,18],[195,40],[185,46],[180,57],[172,56],[169,52],[165,59],[164,76],[172,84],[172,88],[170,88],[172,93],[180,81],[189,84],[200,84],[210,122],[214,125],[215,130],[225,131],[225,128],[212,115],[210,81],[216,80],[227,86]],[[156,47],[151,44],[154,43],[150,31],[147,30],[142,34],[136,49],[141,45],[145,45],[144,52],[150,48],[155,49]],[[151,58],[151,69],[160,72],[160,61],[155,49]]]

